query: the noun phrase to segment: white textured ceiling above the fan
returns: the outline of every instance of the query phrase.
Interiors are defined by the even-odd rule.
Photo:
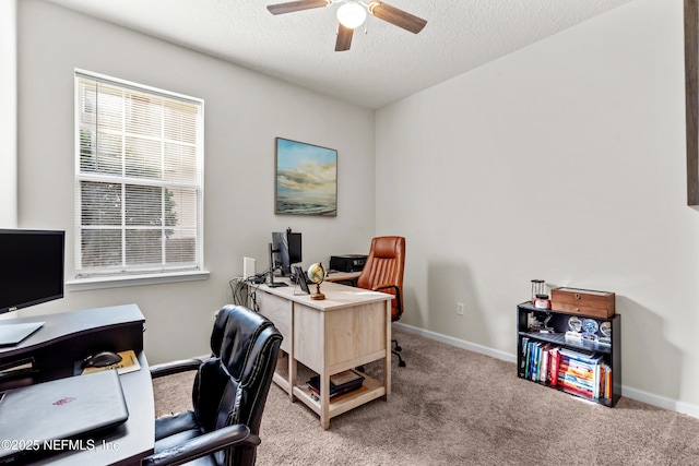
[[[390,0],[427,26],[369,15],[342,52],[336,4],[275,16],[265,7],[284,0],[47,1],[380,108],[632,0]]]

